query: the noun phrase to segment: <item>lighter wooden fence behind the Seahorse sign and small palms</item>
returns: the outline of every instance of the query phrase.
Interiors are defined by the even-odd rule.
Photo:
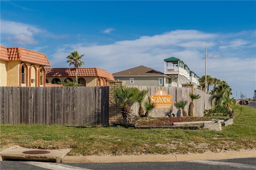
[[[159,87],[159,86],[134,86],[139,90],[148,89],[148,97],[154,95],[154,93],[159,89],[164,89],[167,91],[168,95],[172,96],[172,103],[187,100],[188,104],[185,107],[186,112],[188,113],[188,105],[190,102],[189,93],[192,92],[190,87]],[[200,99],[194,100],[194,116],[202,117],[204,116],[204,109],[210,109],[211,106],[208,104],[208,99],[210,95],[201,91],[200,89],[195,89],[195,94],[199,94],[201,96]],[[132,105],[133,113],[138,113],[138,104]],[[168,113],[174,113],[175,116],[179,115],[178,109],[173,106],[172,109],[154,109],[150,116],[152,117],[166,117]]]

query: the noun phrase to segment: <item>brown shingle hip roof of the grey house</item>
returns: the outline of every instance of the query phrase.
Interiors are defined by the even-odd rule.
[[[115,77],[118,76],[163,76],[164,73],[152,69],[150,67],[145,67],[144,65],[140,65],[138,67],[134,67],[131,69],[127,69],[124,71],[120,71],[117,73],[113,73]]]

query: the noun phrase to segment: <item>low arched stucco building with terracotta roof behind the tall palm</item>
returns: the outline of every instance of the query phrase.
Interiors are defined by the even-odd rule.
[[[115,80],[111,73],[99,68],[78,68],[78,83],[84,86],[109,86],[109,81]],[[47,68],[46,83],[56,84],[65,82],[68,79],[71,82],[76,81],[75,68]]]

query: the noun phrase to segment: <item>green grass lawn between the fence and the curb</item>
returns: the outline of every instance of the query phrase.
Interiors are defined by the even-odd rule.
[[[206,129],[134,129],[123,127],[67,127],[1,125],[1,150],[73,148],[69,155],[121,155],[220,152],[256,149],[256,109],[243,106],[234,124],[222,131]]]

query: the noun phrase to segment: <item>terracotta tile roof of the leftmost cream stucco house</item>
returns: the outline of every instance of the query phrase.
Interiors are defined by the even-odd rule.
[[[44,53],[39,53],[37,51],[32,51],[30,49],[21,47],[4,47],[2,45],[0,45],[0,49],[0,59],[8,61],[25,61],[38,65],[51,66]]]

